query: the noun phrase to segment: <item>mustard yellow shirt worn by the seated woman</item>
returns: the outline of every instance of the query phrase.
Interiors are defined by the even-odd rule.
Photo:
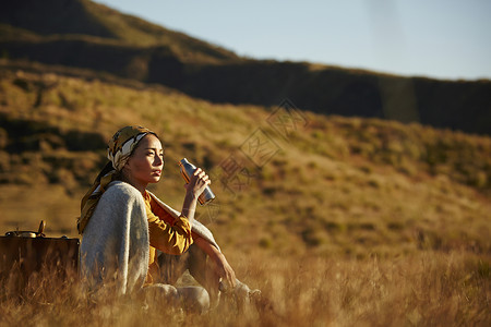
[[[145,192],[146,217],[148,220],[149,261],[147,282],[152,282],[152,275],[158,274],[156,249],[164,253],[180,255],[193,243],[191,225],[188,218],[173,218],[158,203]]]

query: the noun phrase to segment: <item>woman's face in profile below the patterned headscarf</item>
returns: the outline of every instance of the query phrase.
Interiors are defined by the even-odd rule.
[[[124,166],[123,173],[140,191],[148,183],[160,180],[164,168],[164,149],[160,141],[153,134],[140,140],[133,154]]]

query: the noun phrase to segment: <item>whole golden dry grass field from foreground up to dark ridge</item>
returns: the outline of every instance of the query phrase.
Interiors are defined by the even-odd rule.
[[[43,219],[49,237],[79,237],[79,202],[106,141],[141,124],[166,147],[153,191],[180,208],[177,162],[204,167],[217,201],[200,220],[263,293],[258,308],[197,315],[93,303],[75,280],[40,278],[22,300],[2,288],[0,325],[491,325],[490,137],[285,104],[214,105],[4,62],[0,73],[2,234]]]

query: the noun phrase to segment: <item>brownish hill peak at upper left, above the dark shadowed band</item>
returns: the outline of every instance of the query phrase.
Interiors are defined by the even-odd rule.
[[[2,36],[9,38],[15,33],[17,40],[19,36],[26,36],[19,32],[21,29],[29,31],[31,39],[35,36],[38,40],[46,36],[84,35],[112,45],[168,47],[181,59],[201,62],[238,58],[229,50],[89,0],[9,2],[0,12],[0,22],[3,23]]]

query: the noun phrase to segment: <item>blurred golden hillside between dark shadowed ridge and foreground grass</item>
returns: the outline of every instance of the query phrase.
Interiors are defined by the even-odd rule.
[[[154,191],[171,205],[182,201],[180,158],[209,171],[217,202],[200,219],[229,253],[491,251],[490,137],[280,104],[214,105],[5,61],[0,69],[1,230],[45,219],[49,233],[76,237],[79,201],[104,166],[106,141],[137,123],[164,140],[165,175]],[[296,124],[278,124],[280,114]],[[253,140],[267,141],[271,156],[258,157]],[[230,159],[241,170],[227,179]]]

